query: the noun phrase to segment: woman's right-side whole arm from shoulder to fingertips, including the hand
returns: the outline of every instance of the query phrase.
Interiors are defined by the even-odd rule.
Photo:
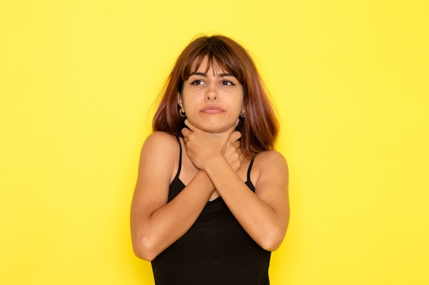
[[[249,236],[264,249],[277,249],[289,223],[288,169],[282,155],[275,151],[258,154],[254,162],[256,191],[253,193],[222,154],[228,139],[219,139],[219,134],[186,124],[192,131],[182,133],[193,163],[209,176]]]

